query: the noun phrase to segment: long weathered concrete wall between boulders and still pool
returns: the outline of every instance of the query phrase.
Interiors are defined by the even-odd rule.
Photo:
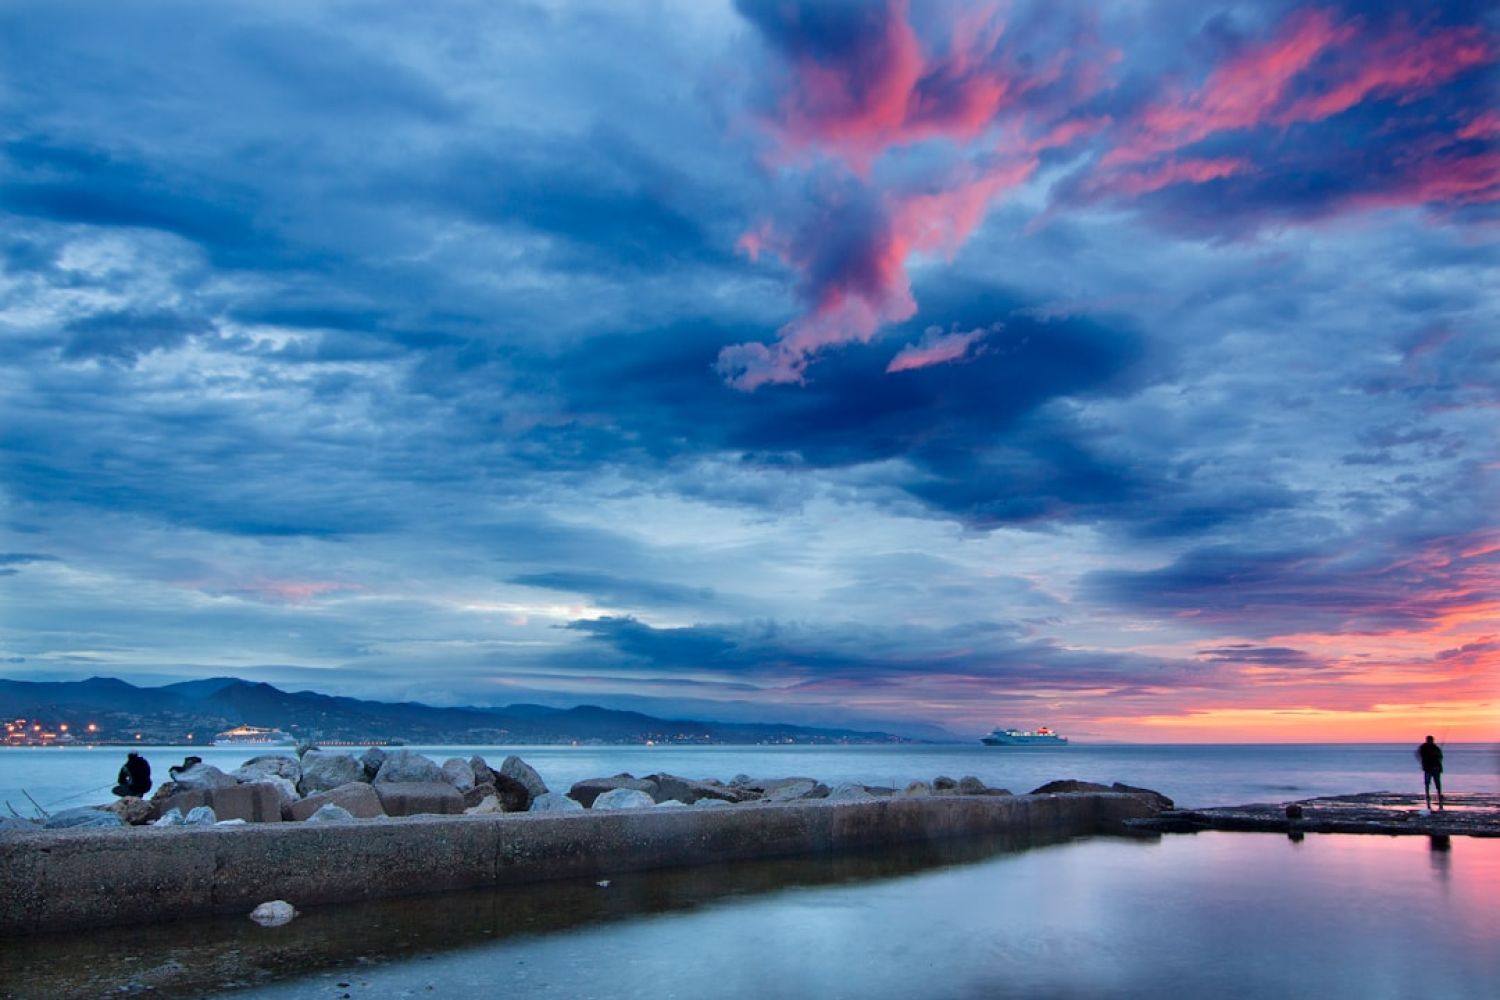
[[[1078,837],[1155,808],[1132,795],[934,796],[716,810],[56,831],[0,840],[0,936],[604,877],[964,837]]]

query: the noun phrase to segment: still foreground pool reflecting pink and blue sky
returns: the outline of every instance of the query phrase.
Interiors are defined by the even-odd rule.
[[[6,996],[1494,997],[1500,840],[1198,834],[620,874],[9,942]]]

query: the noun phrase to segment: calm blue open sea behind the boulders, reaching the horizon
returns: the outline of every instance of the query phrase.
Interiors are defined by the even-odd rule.
[[[519,754],[554,789],[628,771],[664,771],[688,778],[728,781],[753,777],[810,777],[830,784],[860,781],[902,787],[938,775],[975,775],[987,784],[1029,792],[1053,778],[1080,778],[1156,789],[1179,805],[1281,802],[1354,792],[1420,792],[1422,772],[1410,744],[1318,745],[1070,745],[982,747],[414,747],[444,760],[480,754],[498,763]],[[150,747],[158,783],[186,754],[230,771],[256,753],[290,748]],[[358,754],[358,750],[351,753]],[[1500,744],[1449,744],[1444,789],[1500,793]],[[40,805],[66,808],[110,801],[110,787],[124,760],[118,747],[0,748],[0,808],[10,802],[30,814],[22,789]]]

